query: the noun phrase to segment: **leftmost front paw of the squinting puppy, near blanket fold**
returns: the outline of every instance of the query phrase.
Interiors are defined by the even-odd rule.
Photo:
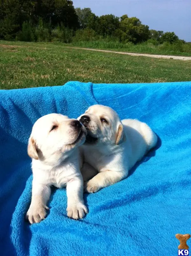
[[[31,223],[39,223],[46,217],[46,210],[49,208],[47,206],[30,206],[25,218]]]

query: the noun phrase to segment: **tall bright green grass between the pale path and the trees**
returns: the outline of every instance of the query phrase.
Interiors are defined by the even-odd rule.
[[[191,43],[182,45],[171,45],[164,43],[158,46],[152,43],[132,44],[132,43],[119,43],[115,41],[97,40],[97,41],[74,41],[74,46],[85,48],[97,48],[102,50],[113,50],[121,52],[132,53],[148,53],[148,54],[161,54],[161,55],[180,55],[191,56]]]

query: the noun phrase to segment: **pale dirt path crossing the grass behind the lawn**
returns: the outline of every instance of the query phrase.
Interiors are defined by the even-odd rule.
[[[183,61],[191,60],[191,57],[186,57],[186,56],[156,55],[156,54],[145,54],[145,53],[114,52],[114,51],[108,51],[108,50],[90,49],[90,48],[80,48],[80,47],[67,47],[67,48],[82,49],[82,50],[89,50],[89,51],[96,51],[96,52],[118,53],[118,54],[132,55],[132,56],[145,56],[145,57],[151,57],[151,58],[165,58],[165,59],[174,59],[174,60],[183,60]]]

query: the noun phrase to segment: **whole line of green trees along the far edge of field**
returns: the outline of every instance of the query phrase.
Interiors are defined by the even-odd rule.
[[[134,44],[180,42],[174,32],[150,30],[136,17],[96,16],[90,8],[74,8],[70,0],[1,0],[0,39],[59,40],[70,43],[99,39]]]

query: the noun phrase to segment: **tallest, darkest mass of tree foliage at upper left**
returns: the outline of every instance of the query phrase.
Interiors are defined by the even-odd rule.
[[[48,33],[63,24],[65,27],[79,28],[78,16],[73,2],[69,0],[0,0],[0,38],[15,38],[18,31],[30,26],[38,26],[39,19],[46,24]],[[25,22],[24,26],[23,23]],[[43,25],[44,26],[44,25]],[[22,32],[23,33],[23,32]],[[28,33],[29,35],[29,33]],[[25,36],[25,39],[28,38]]]

